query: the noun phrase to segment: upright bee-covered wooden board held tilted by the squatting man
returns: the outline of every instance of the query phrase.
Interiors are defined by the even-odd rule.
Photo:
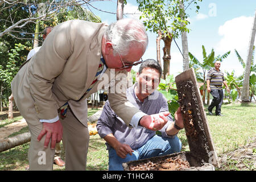
[[[191,153],[205,163],[220,167],[214,150],[203,100],[193,68],[175,77],[183,123]]]

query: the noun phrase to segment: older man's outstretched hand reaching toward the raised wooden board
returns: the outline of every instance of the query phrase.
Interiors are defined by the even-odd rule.
[[[140,121],[141,126],[153,131],[160,130],[164,125],[166,125],[168,121],[166,116],[169,114],[170,112],[165,111],[159,114],[144,115]]]

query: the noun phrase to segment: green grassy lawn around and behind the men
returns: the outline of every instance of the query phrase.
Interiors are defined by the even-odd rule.
[[[95,110],[96,112],[97,110]],[[88,112],[93,114],[94,111]],[[230,151],[248,144],[249,139],[256,136],[256,105],[228,104],[222,106],[222,117],[208,115],[207,120],[210,128],[210,134],[214,142],[215,150],[218,156],[227,154]],[[1,120],[0,120],[1,126]],[[178,134],[183,143],[182,151],[189,151],[185,131],[181,130]],[[29,143],[23,144],[10,150],[0,153],[0,170],[24,170],[27,165],[27,150]],[[253,148],[256,152],[256,148]],[[62,158],[65,159],[65,153],[62,152]],[[90,136],[89,150],[87,157],[87,170],[108,170],[108,151],[106,151],[105,141],[99,135]],[[255,162],[255,161],[254,161]],[[233,162],[236,164],[237,162]],[[63,170],[56,165],[55,170]],[[236,168],[226,168],[236,169]],[[254,168],[248,168],[254,169]]]

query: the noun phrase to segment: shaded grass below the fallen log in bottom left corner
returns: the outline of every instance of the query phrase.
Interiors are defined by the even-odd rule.
[[[27,152],[30,142],[0,153],[0,171],[24,170],[28,164]]]

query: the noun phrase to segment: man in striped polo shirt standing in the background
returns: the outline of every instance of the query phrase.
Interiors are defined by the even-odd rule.
[[[210,69],[207,73],[207,91],[210,92],[213,96],[213,100],[208,107],[210,115],[213,115],[213,107],[216,107],[215,114],[222,116],[221,114],[221,105],[223,103],[223,89],[222,83],[226,86],[227,91],[229,92],[229,87],[226,84],[224,74],[220,71],[220,61],[214,63],[214,68]]]

